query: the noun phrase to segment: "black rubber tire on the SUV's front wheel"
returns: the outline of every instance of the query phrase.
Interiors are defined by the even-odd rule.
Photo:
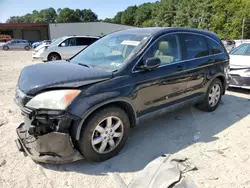
[[[121,126],[111,132],[107,127],[108,118],[113,118],[110,121],[112,122],[110,125],[113,125],[111,126],[113,129],[115,129],[116,125],[120,124],[118,123],[119,120],[121,121]],[[103,134],[100,133],[101,131],[99,132],[99,129],[98,131],[96,130],[96,128],[100,126],[106,128]],[[108,160],[117,155],[123,148],[128,139],[129,129],[130,121],[128,115],[122,109],[117,107],[103,108],[94,113],[86,122],[86,126],[81,130],[81,137],[78,142],[79,150],[89,161],[101,162]],[[122,136],[117,137],[119,134]],[[102,139],[102,141],[98,144],[94,144],[94,138],[95,140]],[[114,141],[113,145],[115,144],[113,149],[110,144],[112,140]],[[103,152],[100,152],[103,142],[106,142],[106,148]]]

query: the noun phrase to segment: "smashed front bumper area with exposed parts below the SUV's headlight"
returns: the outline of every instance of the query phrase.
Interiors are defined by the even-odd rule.
[[[42,163],[62,164],[83,159],[69,134],[72,117],[65,113],[52,114],[48,115],[46,111],[23,112],[25,122],[16,129],[19,151]]]

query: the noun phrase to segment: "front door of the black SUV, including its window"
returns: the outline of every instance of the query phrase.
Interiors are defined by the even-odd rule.
[[[187,89],[187,67],[182,61],[181,43],[178,35],[160,37],[135,67],[136,93],[134,104],[138,116],[161,112],[184,105]],[[147,58],[157,57],[160,67],[151,71],[140,70]]]

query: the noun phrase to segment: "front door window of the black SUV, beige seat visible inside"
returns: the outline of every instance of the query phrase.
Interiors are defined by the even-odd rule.
[[[170,64],[181,60],[181,46],[177,35],[168,35],[160,38],[149,48],[144,60],[150,57],[158,57],[161,64]]]

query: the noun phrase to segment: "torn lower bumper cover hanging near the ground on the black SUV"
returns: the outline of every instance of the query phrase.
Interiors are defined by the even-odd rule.
[[[25,152],[34,161],[63,164],[83,159],[83,156],[74,149],[67,133],[50,132],[34,137],[28,133],[24,123],[19,125],[16,132],[19,151]]]

